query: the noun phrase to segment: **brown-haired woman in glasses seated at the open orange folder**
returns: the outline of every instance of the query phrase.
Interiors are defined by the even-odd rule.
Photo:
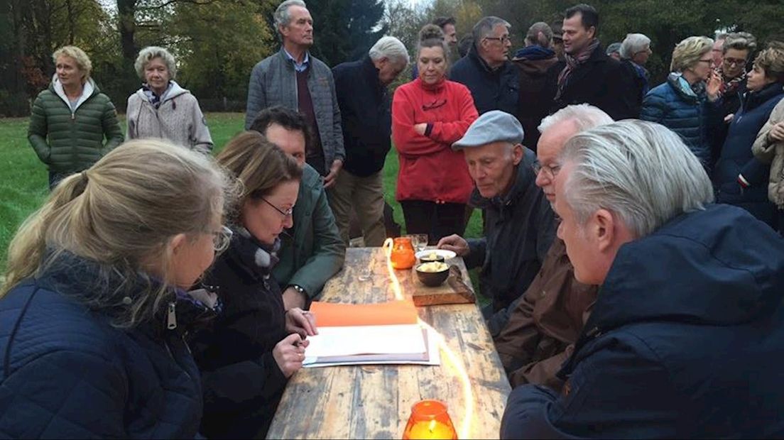
[[[285,310],[272,268],[285,228],[292,226],[302,169],[259,132],[242,132],[217,157],[241,182],[228,249],[205,279],[223,311],[194,335],[192,348],[205,392],[201,434],[263,438],[286,381],[302,368],[314,317]]]

